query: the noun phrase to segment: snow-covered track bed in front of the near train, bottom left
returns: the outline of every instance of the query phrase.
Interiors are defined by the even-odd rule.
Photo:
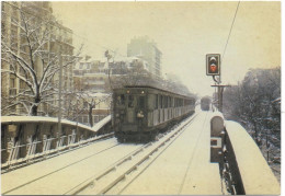
[[[2,174],[1,194],[62,195],[140,146],[113,138]]]

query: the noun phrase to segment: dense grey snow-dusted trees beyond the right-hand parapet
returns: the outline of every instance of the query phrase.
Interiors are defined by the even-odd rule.
[[[258,145],[280,148],[281,68],[250,70],[242,82],[225,91],[224,113],[244,125]]]

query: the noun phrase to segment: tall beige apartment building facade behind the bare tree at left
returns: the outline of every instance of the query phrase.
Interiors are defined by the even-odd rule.
[[[45,20],[47,19],[53,21],[53,23],[45,23]],[[37,55],[33,56],[34,54],[41,53],[34,48],[32,48],[34,49],[32,53],[30,46],[34,46],[36,44],[29,43],[31,41],[26,38],[27,36],[25,35],[25,31],[23,28],[24,20],[32,21],[30,24],[37,26],[35,35],[38,35],[38,37],[42,36],[47,41],[42,47],[47,53],[42,53],[43,56],[41,57]],[[47,33],[49,31],[52,33]],[[23,80],[21,80],[21,77],[24,77],[30,81],[32,79],[29,78],[25,70],[22,69],[21,66],[12,66],[12,64],[8,61],[8,53],[5,51],[11,49],[18,57],[26,61],[33,58],[34,61],[32,65],[30,65],[30,67],[31,70],[33,70],[32,72],[35,72],[36,77],[41,81],[41,76],[44,76],[45,69],[48,66],[48,60],[43,61],[42,59],[48,59],[52,58],[52,56],[58,56],[61,65],[66,65],[70,60],[71,56],[73,55],[72,31],[56,22],[56,19],[53,15],[52,2],[8,1],[1,3],[1,36],[2,42],[5,43],[5,46],[1,46],[1,68],[2,70],[5,70],[1,72],[1,101],[2,108],[7,108],[2,109],[1,114],[27,115],[27,109],[25,108],[24,104],[19,104],[21,102],[21,94],[29,96],[29,93],[24,94],[29,87],[25,82],[23,82]],[[36,38],[37,37],[35,37],[34,41],[36,41]],[[9,49],[5,50],[5,48]],[[69,91],[73,85],[72,66],[64,67],[62,69],[62,89]],[[14,73],[12,74],[9,71],[13,71]],[[54,89],[58,88],[58,72],[55,72],[52,77],[52,80],[48,80]],[[56,101],[57,96],[57,94],[54,94],[49,104],[41,103],[38,105],[39,113],[37,115],[56,115],[58,111],[58,108],[55,108],[56,105],[58,105],[58,101]],[[8,103],[9,100],[11,101],[11,99],[14,100],[14,104]],[[64,103],[62,106],[65,104],[66,103]],[[53,108],[50,105],[53,105]]]

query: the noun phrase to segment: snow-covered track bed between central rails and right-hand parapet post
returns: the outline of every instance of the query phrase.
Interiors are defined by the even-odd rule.
[[[221,195],[217,163],[209,162],[210,113],[185,131],[122,195]]]

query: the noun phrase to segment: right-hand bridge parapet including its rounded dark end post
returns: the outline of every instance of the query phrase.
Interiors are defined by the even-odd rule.
[[[229,193],[280,195],[280,184],[259,147],[238,123],[214,114],[210,120],[210,162],[218,162]]]

